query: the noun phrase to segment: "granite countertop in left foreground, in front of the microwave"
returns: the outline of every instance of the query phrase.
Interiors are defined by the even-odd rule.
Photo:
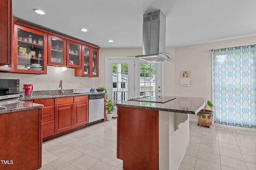
[[[26,110],[30,110],[30,109],[39,109],[39,108],[44,107],[44,105],[40,105],[37,103],[31,103],[28,101],[20,101],[18,99],[1,101],[0,106],[4,106],[7,108],[7,109],[0,108],[0,114],[16,112],[16,111],[26,111]]]

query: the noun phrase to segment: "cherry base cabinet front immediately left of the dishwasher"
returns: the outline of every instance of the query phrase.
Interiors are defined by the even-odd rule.
[[[86,125],[89,118],[88,96],[74,97],[74,127]]]

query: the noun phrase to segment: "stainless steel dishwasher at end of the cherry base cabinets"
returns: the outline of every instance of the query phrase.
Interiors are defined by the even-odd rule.
[[[88,125],[101,122],[104,119],[104,94],[89,95]]]

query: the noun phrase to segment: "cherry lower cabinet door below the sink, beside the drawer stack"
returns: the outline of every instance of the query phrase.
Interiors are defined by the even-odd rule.
[[[54,106],[54,133],[63,132],[74,127],[74,104]]]

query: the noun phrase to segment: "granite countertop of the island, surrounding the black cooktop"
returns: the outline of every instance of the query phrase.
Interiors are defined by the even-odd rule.
[[[174,97],[176,99],[168,101],[166,103],[153,103],[144,101],[123,101],[116,103],[117,106],[134,107],[140,109],[151,109],[158,111],[168,111],[176,113],[196,114],[205,105],[204,98],[202,97],[177,97],[177,96],[165,96]]]

